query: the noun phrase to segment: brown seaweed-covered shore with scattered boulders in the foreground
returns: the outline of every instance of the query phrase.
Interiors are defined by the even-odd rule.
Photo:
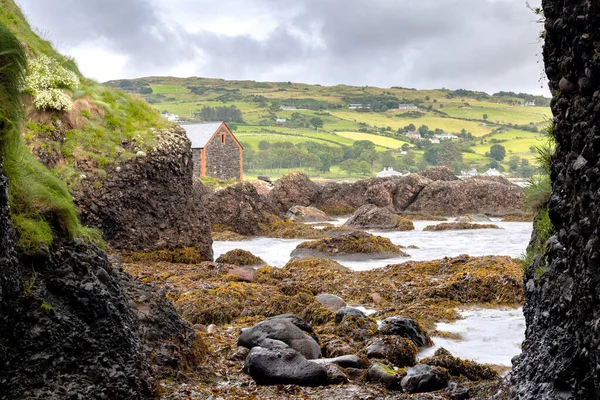
[[[208,344],[212,375],[191,374],[186,385],[162,381],[167,399],[488,398],[501,382],[493,368],[443,350],[417,362],[416,351],[431,343],[434,322],[459,318],[457,307],[523,299],[520,265],[508,257],[364,272],[301,258],[284,268],[257,268],[251,277],[222,263],[123,267],[164,288]],[[377,311],[367,316],[347,304]],[[376,320],[383,321],[379,328]]]

